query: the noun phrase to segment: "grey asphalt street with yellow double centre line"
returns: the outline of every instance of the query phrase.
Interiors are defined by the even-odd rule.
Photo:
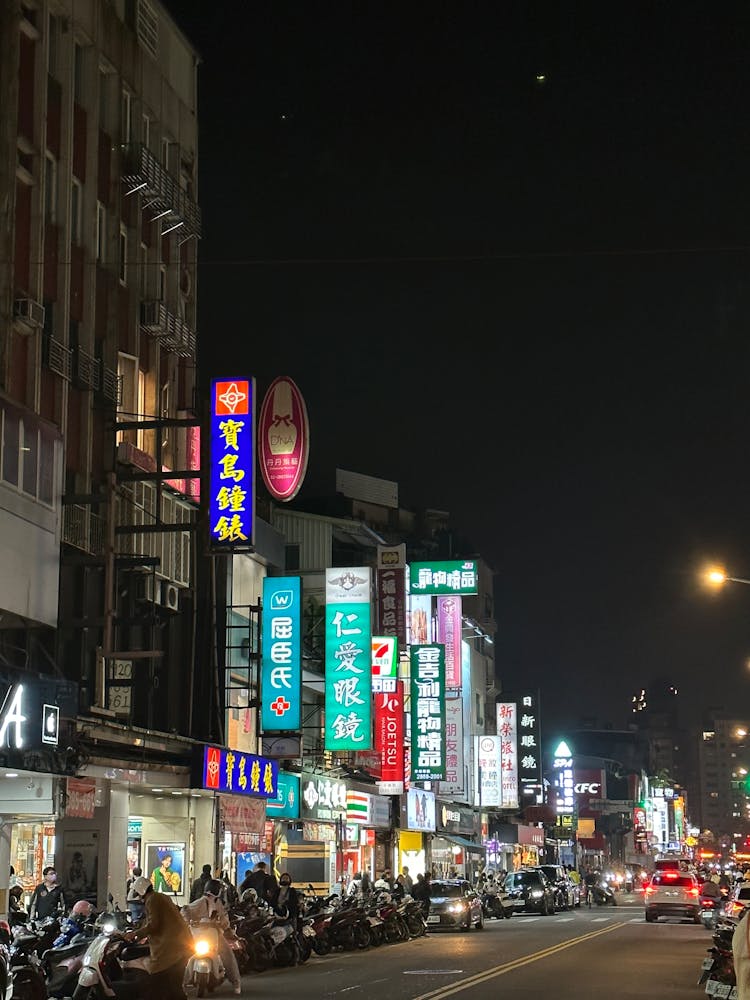
[[[403,944],[313,955],[300,968],[245,976],[243,993],[286,1000],[511,997],[699,1000],[711,935],[677,921],[646,924],[640,905],[490,920],[483,931],[438,931]],[[216,996],[228,993],[222,987]]]

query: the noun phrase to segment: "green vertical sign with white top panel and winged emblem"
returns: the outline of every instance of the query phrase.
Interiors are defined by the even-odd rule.
[[[326,572],[326,750],[372,747],[370,574]]]

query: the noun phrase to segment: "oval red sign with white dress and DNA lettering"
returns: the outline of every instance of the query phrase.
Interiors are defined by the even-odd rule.
[[[280,375],[268,387],[258,418],[260,471],[274,500],[292,500],[307,471],[310,424],[302,393]]]

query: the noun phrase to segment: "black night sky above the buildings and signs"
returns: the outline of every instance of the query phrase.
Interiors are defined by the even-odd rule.
[[[659,675],[750,712],[750,587],[695,586],[750,576],[750,7],[172,8],[202,377],[297,381],[303,496],[338,465],[452,512],[549,726]]]

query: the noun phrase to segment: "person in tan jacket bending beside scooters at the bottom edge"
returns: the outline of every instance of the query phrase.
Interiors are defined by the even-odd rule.
[[[171,899],[154,891],[145,875],[135,879],[130,892],[143,902],[146,912],[146,922],[126,931],[125,938],[148,938],[151,962],[147,995],[159,1000],[186,1000],[183,980],[193,953],[193,935],[187,921]]]

